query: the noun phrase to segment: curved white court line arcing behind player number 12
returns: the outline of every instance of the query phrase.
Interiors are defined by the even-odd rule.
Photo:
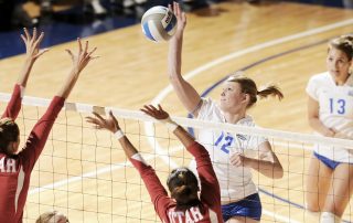
[[[293,41],[293,40],[298,40],[298,39],[301,39],[301,38],[306,38],[306,36],[312,35],[312,34],[318,34],[318,33],[321,33],[321,32],[325,32],[325,31],[333,30],[333,29],[336,29],[336,28],[351,25],[352,23],[353,23],[353,19],[345,20],[345,21],[342,21],[342,22],[336,22],[336,23],[333,23],[333,24],[324,25],[324,26],[321,26],[321,28],[317,28],[317,29],[312,29],[312,30],[306,31],[306,32],[297,33],[297,34],[293,34],[293,35],[288,35],[288,36],[280,38],[280,39],[277,39],[277,40],[272,40],[272,41],[269,41],[269,42],[265,42],[265,43],[261,43],[261,44],[258,44],[258,45],[254,45],[254,46],[250,46],[248,49],[245,49],[245,50],[242,50],[242,51],[238,51],[238,52],[231,53],[228,55],[222,56],[222,57],[216,59],[214,61],[211,61],[211,62],[208,62],[208,63],[206,63],[204,65],[201,65],[197,68],[186,73],[184,75],[184,78],[185,79],[191,79],[192,77],[201,74],[202,72],[204,72],[204,71],[206,71],[206,70],[208,70],[211,67],[214,67],[216,65],[220,65],[222,63],[225,63],[227,61],[234,60],[236,57],[243,56],[243,55],[252,53],[252,52],[256,52],[256,51],[269,47],[269,46],[278,45],[280,43],[286,43],[286,42],[289,42],[289,41]],[[154,97],[152,99],[151,103],[154,104],[154,105],[160,104],[167,97],[167,95],[172,92],[172,89],[173,89],[172,86],[169,84],[164,89],[162,89],[157,95],[157,97]],[[148,136],[153,136],[154,131],[153,131],[153,129],[151,127],[152,127],[151,125],[145,125],[145,130],[146,130]],[[157,148],[156,149],[157,152],[161,152],[163,150],[159,146],[158,141],[154,141],[154,140],[151,141],[149,139],[149,142],[150,144],[153,142],[151,145],[153,145]],[[282,216],[282,215],[276,214],[276,213],[267,211],[265,209],[263,209],[263,211],[264,211],[264,214],[266,214],[268,216],[271,216],[271,217],[275,217],[275,219],[278,219],[278,220],[281,220],[284,222],[290,222],[290,223],[291,222],[297,222],[297,221],[288,219],[287,216]]]

